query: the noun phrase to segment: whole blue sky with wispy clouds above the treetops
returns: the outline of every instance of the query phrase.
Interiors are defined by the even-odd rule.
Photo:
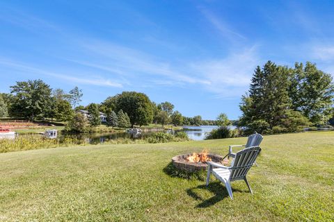
[[[40,78],[230,119],[253,70],[310,60],[334,74],[334,1],[0,1],[0,92]]]

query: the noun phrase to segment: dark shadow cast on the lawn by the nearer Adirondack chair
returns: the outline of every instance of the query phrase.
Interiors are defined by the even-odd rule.
[[[210,192],[212,192],[212,194],[214,194],[214,196],[212,196],[212,198],[209,198],[209,199],[205,200],[196,191],[198,189],[207,189]],[[233,189],[233,188],[232,188],[232,191],[233,192],[243,192],[239,189]],[[186,194],[188,194],[189,196],[191,196],[195,200],[201,200],[202,201],[202,203],[196,205],[196,207],[198,207],[198,208],[210,207],[212,205],[215,205],[219,201],[223,200],[224,198],[230,198],[230,196],[228,196],[227,189],[223,186],[223,184],[220,181],[210,182],[209,186],[199,185],[197,187],[186,189]]]

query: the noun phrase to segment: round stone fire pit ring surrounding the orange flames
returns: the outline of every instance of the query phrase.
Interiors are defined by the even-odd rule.
[[[172,158],[173,166],[177,169],[181,169],[183,171],[195,172],[195,171],[205,171],[207,169],[207,163],[203,162],[186,162],[186,157],[191,156],[192,153],[184,154],[184,155],[175,155]],[[208,157],[211,158],[212,162],[217,162],[219,164],[228,165],[228,159],[223,159],[221,155],[215,154],[207,154]]]

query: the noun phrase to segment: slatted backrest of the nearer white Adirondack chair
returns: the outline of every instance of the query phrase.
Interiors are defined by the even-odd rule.
[[[260,146],[250,146],[236,153],[233,166],[231,166],[230,181],[243,179],[253,166],[260,151]]]

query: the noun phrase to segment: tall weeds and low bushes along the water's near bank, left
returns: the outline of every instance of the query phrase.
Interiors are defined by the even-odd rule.
[[[104,144],[157,144],[166,142],[182,142],[189,140],[188,136],[184,132],[175,133],[170,135],[169,133],[157,132],[145,137],[145,139],[106,139]],[[7,153],[13,151],[26,151],[40,148],[54,148],[60,146],[87,146],[92,145],[86,140],[80,140],[77,138],[65,138],[59,139],[47,139],[40,135],[24,135],[18,136],[15,139],[0,139],[0,153]]]

